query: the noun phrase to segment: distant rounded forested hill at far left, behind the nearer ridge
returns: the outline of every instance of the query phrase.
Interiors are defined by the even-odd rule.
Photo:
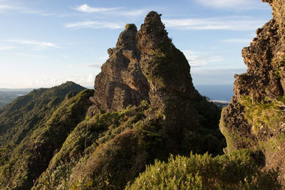
[[[68,93],[85,88],[67,82],[54,88],[40,88],[18,97],[0,115],[0,147],[6,142],[19,144],[26,134],[46,122]],[[73,94],[74,94],[73,93]]]

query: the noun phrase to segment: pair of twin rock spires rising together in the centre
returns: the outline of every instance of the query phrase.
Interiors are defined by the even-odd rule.
[[[120,33],[110,58],[95,78],[95,94],[89,115],[138,106],[142,100],[152,105],[148,120],[158,117],[172,134],[187,126],[195,130],[199,116],[193,107],[198,95],[192,84],[190,65],[172,44],[159,14],[147,14],[137,34],[133,24]]]

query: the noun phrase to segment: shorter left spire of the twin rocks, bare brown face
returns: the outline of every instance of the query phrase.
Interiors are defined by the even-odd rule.
[[[123,110],[128,105],[139,105],[142,100],[148,100],[149,85],[140,70],[136,34],[137,27],[127,25],[120,33],[116,47],[108,49],[110,58],[95,78],[95,93],[90,98],[94,105],[90,107],[89,115],[100,110]]]

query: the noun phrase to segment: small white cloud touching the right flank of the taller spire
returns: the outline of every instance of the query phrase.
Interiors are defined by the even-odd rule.
[[[220,55],[213,53],[199,53],[191,50],[182,51],[191,67],[202,67],[208,63],[221,63],[224,61]]]

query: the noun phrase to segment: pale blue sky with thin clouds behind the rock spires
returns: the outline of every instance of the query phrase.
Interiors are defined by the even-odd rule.
[[[268,22],[261,0],[0,0],[0,88],[41,88],[72,80],[91,87],[126,23],[162,14],[191,66],[194,85],[232,84],[241,51]]]

